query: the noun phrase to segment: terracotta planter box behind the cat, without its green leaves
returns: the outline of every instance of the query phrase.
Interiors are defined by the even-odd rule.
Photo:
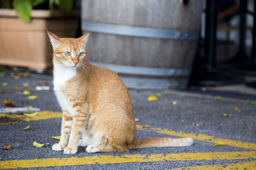
[[[44,70],[52,66],[52,47],[46,30],[61,37],[74,37],[79,11],[65,13],[33,10],[24,22],[14,10],[0,10],[0,64]]]

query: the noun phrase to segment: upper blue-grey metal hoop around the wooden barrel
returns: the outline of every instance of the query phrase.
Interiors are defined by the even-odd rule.
[[[131,25],[105,24],[99,22],[83,21],[83,31],[116,34],[122,36],[136,36],[143,38],[161,38],[177,40],[196,40],[199,32],[180,31],[174,29],[155,29],[150,27],[137,27]]]

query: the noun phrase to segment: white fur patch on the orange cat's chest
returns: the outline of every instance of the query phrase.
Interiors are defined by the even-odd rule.
[[[71,115],[74,114],[72,110],[72,106],[70,102],[68,102],[67,97],[63,92],[60,90],[61,85],[65,85],[65,83],[74,78],[76,76],[76,69],[70,69],[65,66],[60,66],[60,65],[54,65],[54,80],[53,80],[53,85],[54,85],[54,91],[55,94],[58,98],[58,101],[61,105],[62,110],[67,111]]]

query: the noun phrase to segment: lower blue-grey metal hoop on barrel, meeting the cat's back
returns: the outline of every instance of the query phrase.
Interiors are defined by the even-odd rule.
[[[122,74],[134,74],[141,76],[174,76],[174,77],[182,77],[189,76],[191,71],[189,69],[166,69],[166,68],[155,68],[155,67],[138,67],[138,66],[126,66],[119,64],[107,64],[102,62],[92,62],[92,65],[105,67],[114,71],[115,73]]]

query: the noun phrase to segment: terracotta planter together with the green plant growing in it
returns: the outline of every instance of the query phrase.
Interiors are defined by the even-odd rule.
[[[44,70],[52,66],[46,30],[74,37],[80,11],[72,0],[9,0],[0,3],[0,64]]]

